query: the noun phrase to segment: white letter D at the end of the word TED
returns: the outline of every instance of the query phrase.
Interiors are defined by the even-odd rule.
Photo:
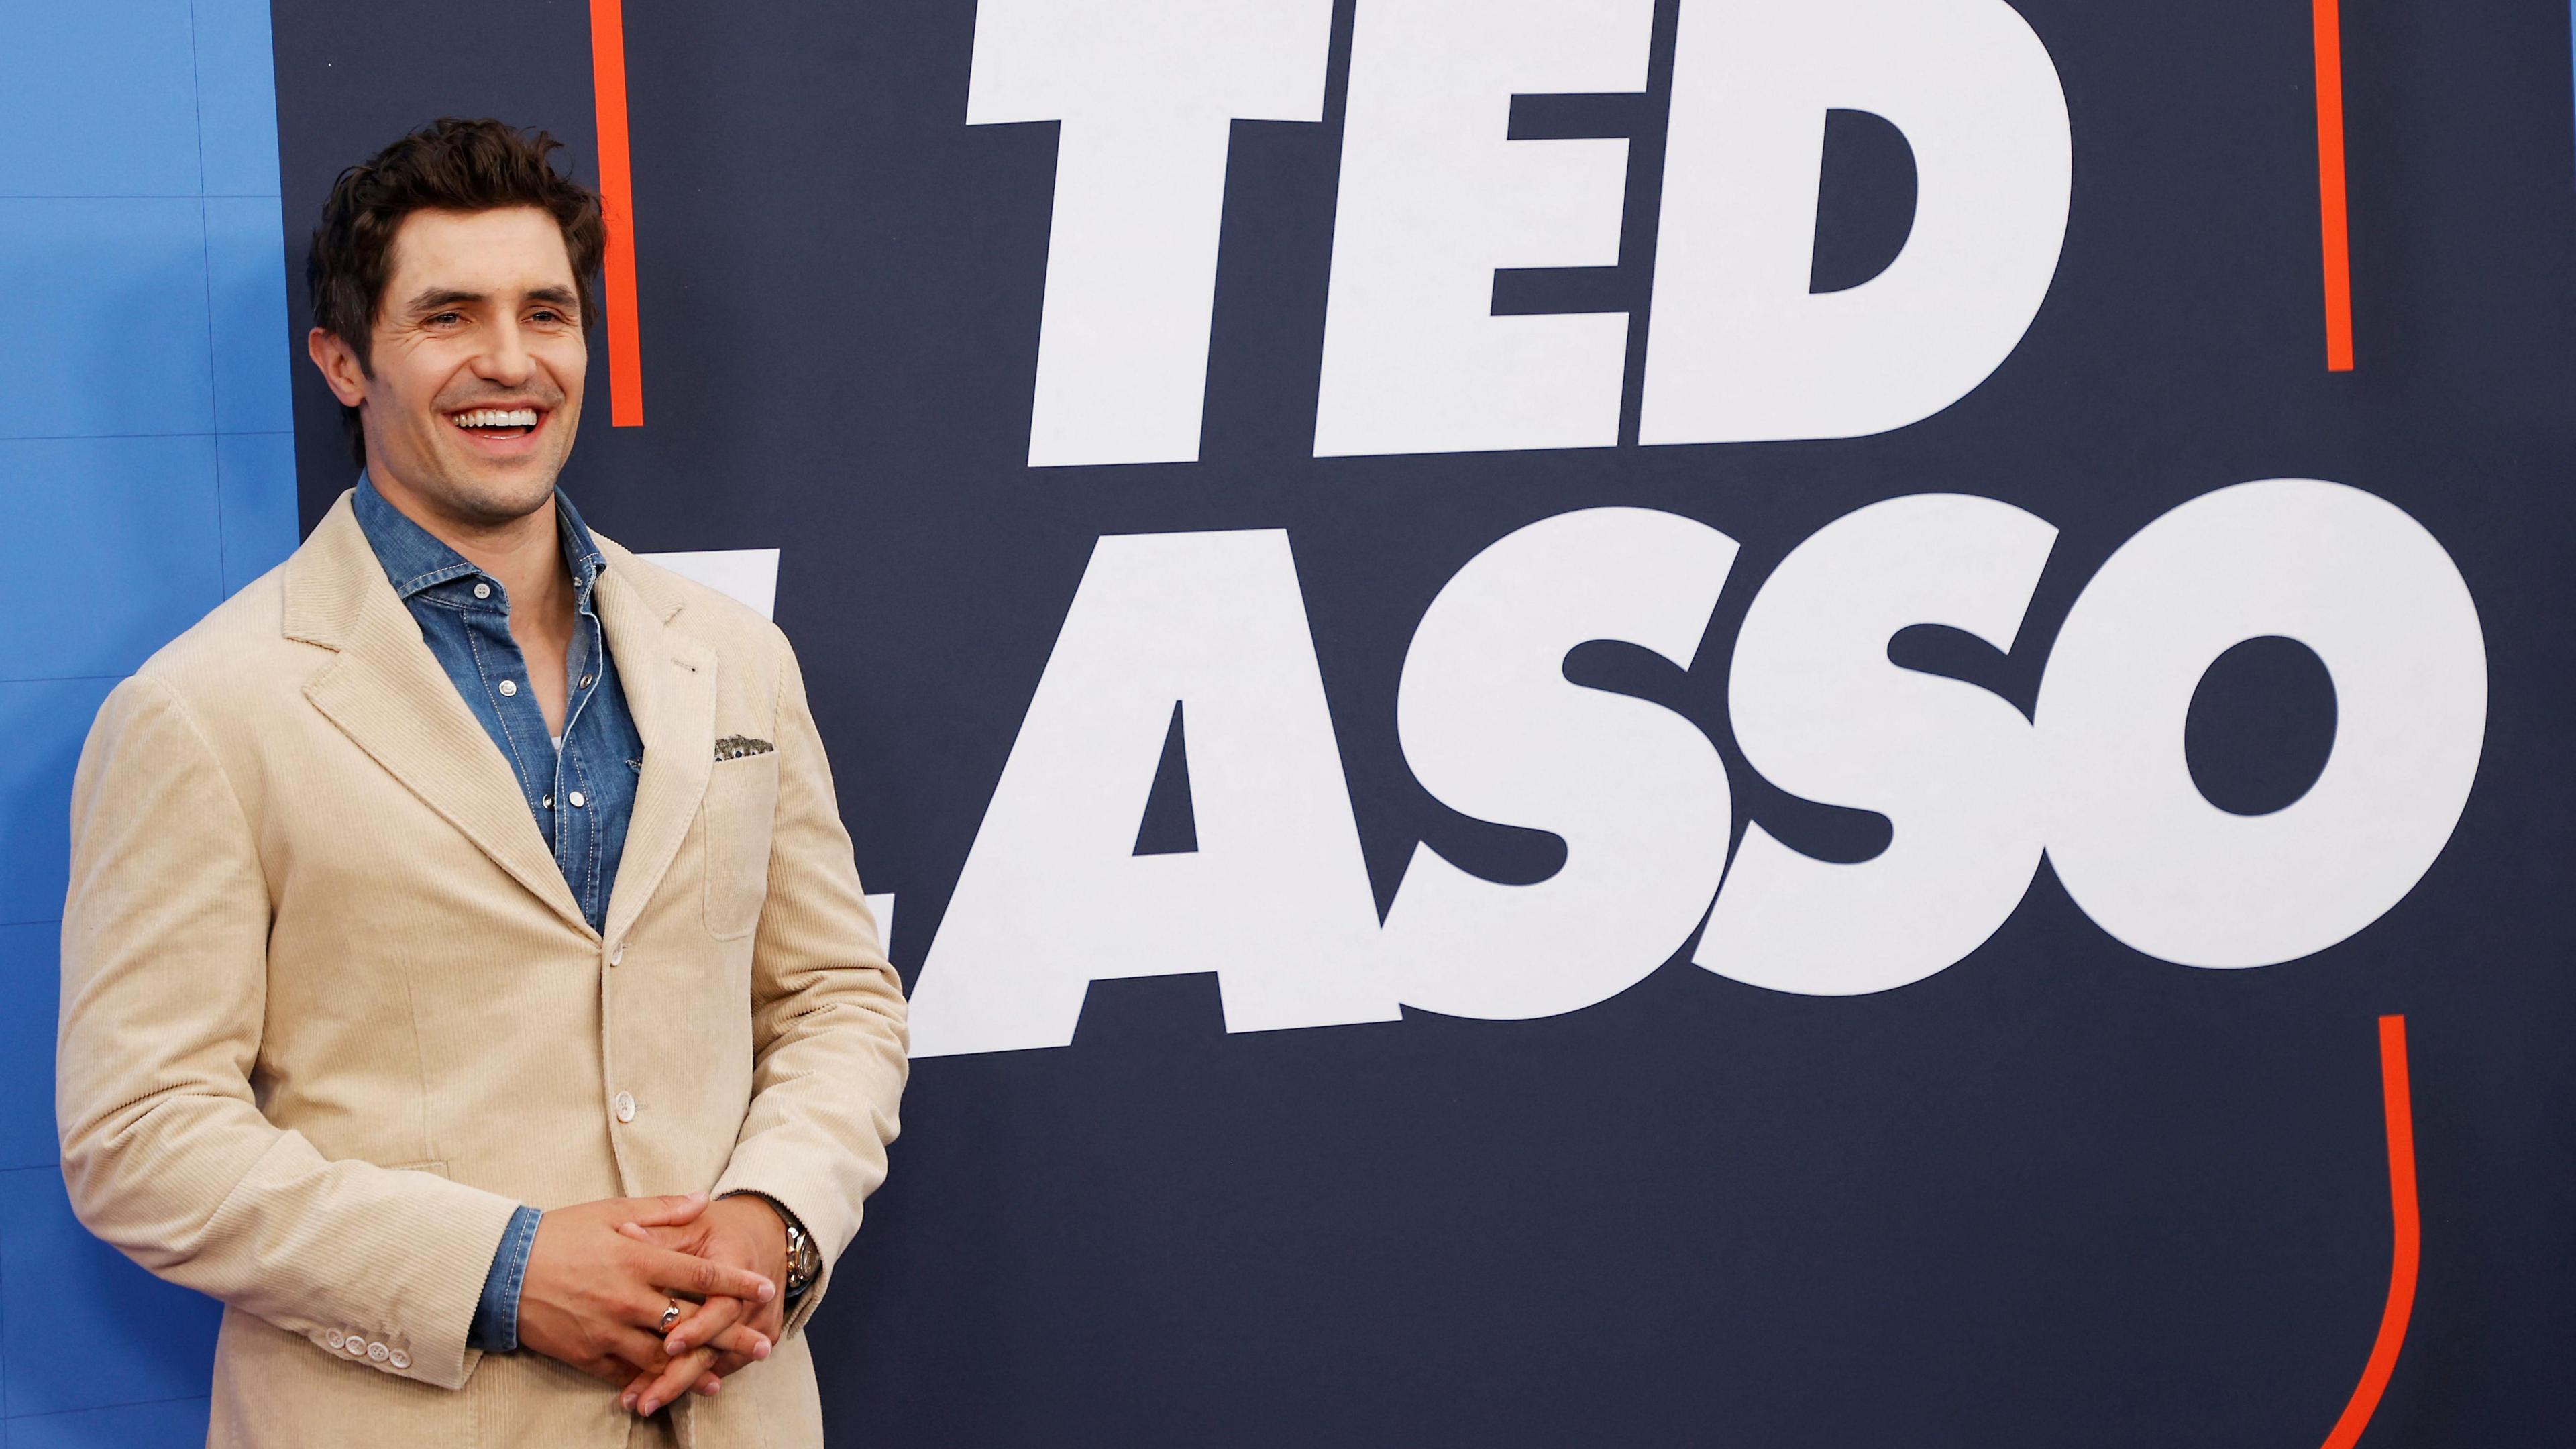
[[[1824,113],[1914,147],[1914,232],[1808,294]],[[1857,438],[1950,407],[2048,297],[2074,168],[2056,64],[2004,0],[1685,0],[1643,443]]]

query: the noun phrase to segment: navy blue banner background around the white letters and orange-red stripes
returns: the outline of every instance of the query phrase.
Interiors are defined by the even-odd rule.
[[[1695,668],[1625,645],[1566,665],[1703,727],[1739,838],[1886,843],[1744,761],[1726,645],[1798,541],[1911,492],[2058,526],[2009,652],[1929,637],[1901,660],[2025,714],[2076,593],[2164,511],[2267,477],[2396,503],[2478,603],[2476,789],[2393,910],[2264,969],[2133,951],[2043,864],[1978,951],[1878,995],[1757,990],[1682,951],[1535,1021],[1226,1034],[1211,975],[1100,982],[1069,1047],[917,1062],[814,1323],[835,1441],[2318,1444],[2388,1297],[2378,1018],[2401,1013],[2424,1256],[2367,1444],[2563,1444],[2568,15],[2342,15],[2360,343],[2329,371],[2311,8],[2020,0],[2074,193],[2012,356],[1891,433],[1636,446],[1664,0],[1643,95],[1512,113],[1517,137],[1633,137],[1620,266],[1497,284],[1504,312],[1636,317],[1620,446],[1319,459],[1352,10],[1319,124],[1234,124],[1198,462],[1056,469],[1028,467],[1056,126],[966,126],[976,8],[623,13],[649,420],[608,425],[600,356],[569,487],[629,547],[781,549],[775,616],[907,977],[1108,534],[1288,531],[1381,910],[1417,841],[1504,882],[1564,859],[1417,784],[1396,683],[1458,567],[1595,505],[1741,544]],[[278,0],[289,266],[337,168],[430,116],[551,129],[595,175],[590,21]],[[1911,196],[1906,147],[1837,119],[1819,278],[1883,266]],[[350,467],[307,369],[294,402],[309,526]],[[2311,665],[2257,650],[2213,676],[2213,797],[2313,779],[2334,694]]]

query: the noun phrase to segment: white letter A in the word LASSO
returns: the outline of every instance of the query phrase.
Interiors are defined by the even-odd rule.
[[[1198,851],[1136,856],[1172,704]],[[912,1055],[1064,1047],[1095,980],[1226,1031],[1394,1021],[1288,534],[1100,539],[912,993]]]

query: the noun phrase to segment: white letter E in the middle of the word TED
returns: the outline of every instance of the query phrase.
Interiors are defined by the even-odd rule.
[[[1643,90],[1651,23],[1651,0],[1360,5],[1316,456],[1618,443],[1628,317],[1494,317],[1494,271],[1618,263],[1628,142],[1512,142],[1512,95]]]

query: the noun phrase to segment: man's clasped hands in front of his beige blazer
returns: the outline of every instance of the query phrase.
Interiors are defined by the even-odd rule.
[[[788,1230],[760,1196],[621,1196],[549,1209],[518,1346],[616,1385],[634,1413],[768,1359],[786,1323]],[[662,1320],[672,1305],[680,1320]]]

